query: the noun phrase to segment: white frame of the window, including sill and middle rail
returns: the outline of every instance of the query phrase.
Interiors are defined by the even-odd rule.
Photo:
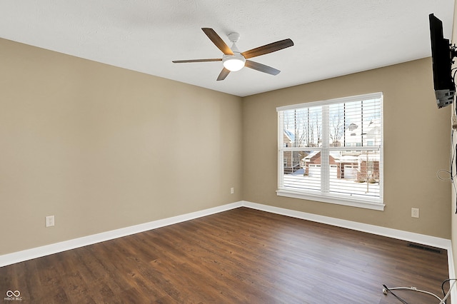
[[[372,100],[372,99],[381,99],[380,101],[380,106],[381,106],[381,144],[374,146],[376,147],[376,150],[379,151],[380,153],[380,159],[379,159],[379,198],[370,198],[370,197],[359,197],[359,196],[354,196],[354,195],[338,195],[334,193],[328,193],[325,191],[306,191],[306,189],[301,189],[301,190],[295,190],[291,188],[284,188],[283,186],[283,176],[284,176],[284,171],[283,171],[283,153],[284,151],[303,151],[307,149],[313,149],[313,150],[319,150],[321,151],[322,155],[325,153],[329,153],[330,151],[335,151],[335,150],[344,150],[347,151],[348,148],[349,150],[357,150],[357,151],[372,151],[373,146],[343,146],[343,147],[296,147],[296,148],[291,148],[291,147],[284,147],[283,146],[283,126],[281,126],[281,112],[283,111],[288,111],[288,110],[294,110],[297,108],[311,108],[315,106],[329,106],[331,104],[335,103],[349,103],[352,101],[366,101],[366,100]],[[349,96],[349,97],[343,97],[343,98],[333,98],[333,99],[328,99],[326,101],[313,101],[313,102],[308,102],[308,103],[299,103],[299,104],[293,104],[289,106],[280,106],[276,108],[276,111],[278,112],[278,189],[276,190],[276,195],[277,196],[285,196],[289,198],[300,198],[304,200],[311,200],[311,201],[319,201],[323,203],[333,203],[333,204],[338,204],[338,205],[343,205],[343,206],[353,206],[353,207],[358,207],[358,208],[368,208],[372,210],[377,210],[377,211],[383,211],[385,204],[383,201],[383,93],[378,92],[378,93],[368,93],[368,94],[363,94],[363,95],[358,95],[358,96]],[[328,117],[324,118],[322,117],[323,120],[323,125],[326,124],[327,126],[322,126],[322,128],[327,128],[326,135],[328,136]],[[323,134],[324,136],[324,134]],[[321,166],[325,166],[324,164],[321,164]],[[328,164],[330,167],[330,164]],[[323,176],[323,178],[328,178],[328,176]],[[321,182],[322,184],[322,182]]]

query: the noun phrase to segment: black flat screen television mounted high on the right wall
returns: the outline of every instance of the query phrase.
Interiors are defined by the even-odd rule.
[[[451,73],[452,59],[455,51],[449,40],[443,37],[443,22],[433,14],[428,15],[430,20],[431,57],[433,61],[433,86],[435,88],[438,108],[453,103],[456,89]]]

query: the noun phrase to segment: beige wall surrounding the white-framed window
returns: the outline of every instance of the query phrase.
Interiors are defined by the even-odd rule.
[[[379,91],[385,211],[276,196],[276,107]],[[450,183],[436,177],[449,166],[450,113],[436,107],[430,58],[243,98],[243,199],[451,238]],[[412,207],[420,208],[420,218],[411,218]]]

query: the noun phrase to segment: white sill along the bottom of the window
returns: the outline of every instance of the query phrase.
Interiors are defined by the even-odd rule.
[[[386,205],[381,201],[369,201],[366,199],[360,198],[342,198],[341,196],[322,196],[322,195],[313,195],[312,193],[303,193],[298,191],[291,191],[288,189],[278,189],[276,191],[277,196],[286,196],[288,198],[300,198],[303,200],[309,201],[319,201],[323,203],[334,203],[337,205],[351,206],[358,208],[366,208],[377,211],[384,211]]]

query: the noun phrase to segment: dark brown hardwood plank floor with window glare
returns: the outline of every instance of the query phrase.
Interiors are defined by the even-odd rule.
[[[382,285],[442,298],[447,278],[446,250],[237,208],[2,267],[0,302],[19,290],[22,303],[401,303]]]

